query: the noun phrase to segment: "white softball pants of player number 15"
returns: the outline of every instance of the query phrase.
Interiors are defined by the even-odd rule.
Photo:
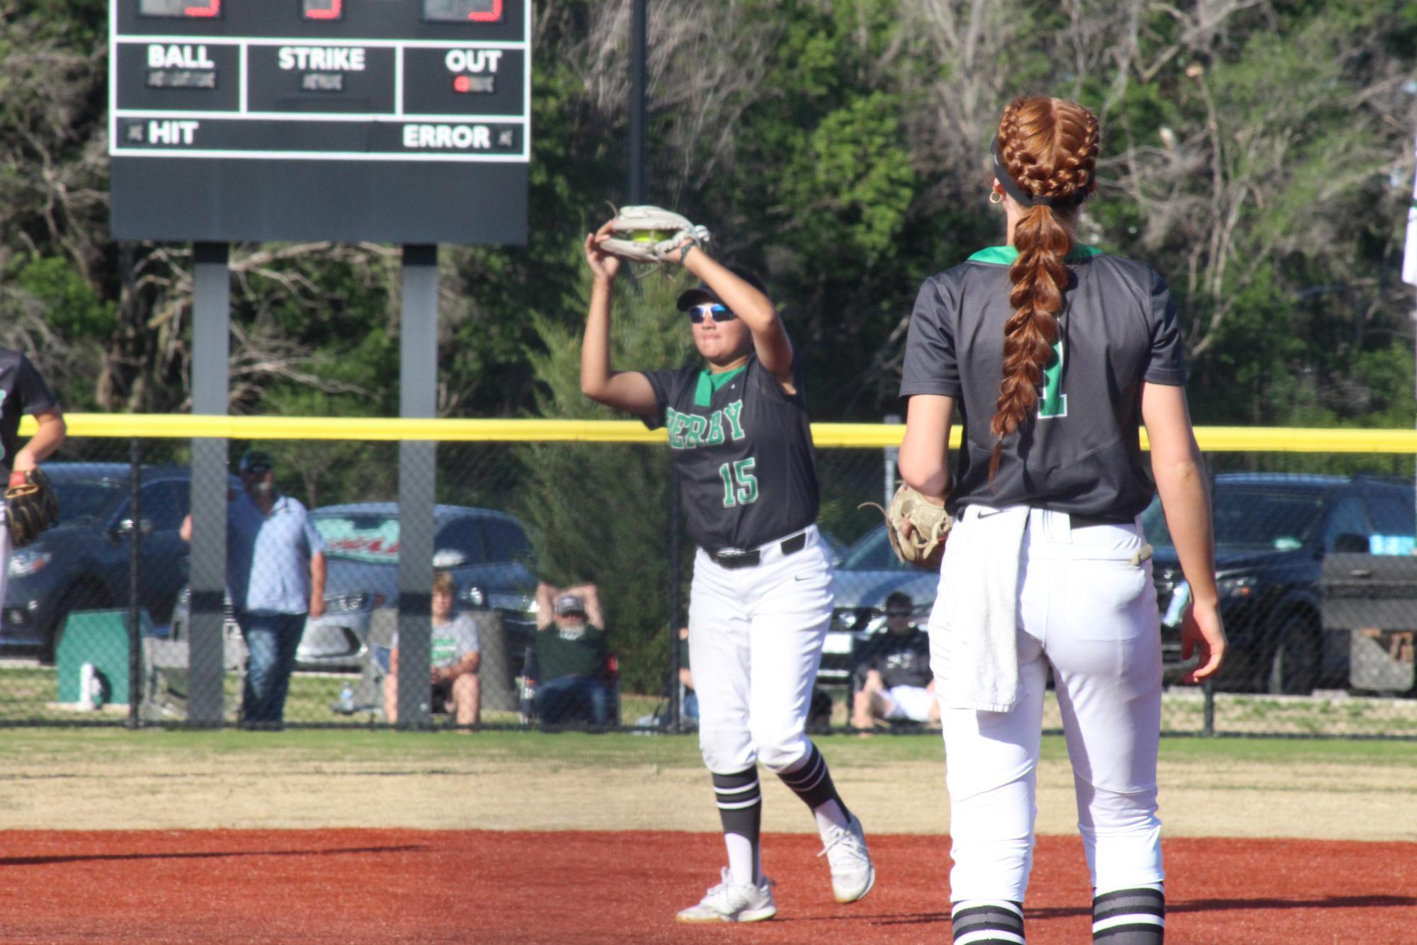
[[[751,568],[694,557],[689,598],[689,664],[699,693],[699,748],[716,774],[761,761],[786,771],[809,748],[806,714],[832,621],[835,577],[816,526],[784,555],[761,547]]]

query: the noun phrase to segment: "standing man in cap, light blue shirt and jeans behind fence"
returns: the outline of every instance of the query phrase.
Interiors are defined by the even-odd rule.
[[[238,472],[242,490],[227,506],[227,594],[248,653],[241,724],[279,728],[305,621],[324,613],[324,541],[300,500],[276,489],[269,453],[247,451]],[[191,540],[191,516],[181,534]]]

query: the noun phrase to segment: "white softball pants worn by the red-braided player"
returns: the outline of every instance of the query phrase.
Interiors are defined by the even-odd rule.
[[[930,621],[937,679],[948,666],[949,608],[941,602],[954,592],[951,561],[971,554],[989,521],[966,510],[945,545]],[[1019,703],[1007,713],[941,706],[952,901],[1023,901],[1033,866],[1047,664],[1095,893],[1162,881],[1161,625],[1151,561],[1136,567],[1125,560],[1144,543],[1135,524],[1073,528],[1066,513],[1030,510],[1019,554]]]

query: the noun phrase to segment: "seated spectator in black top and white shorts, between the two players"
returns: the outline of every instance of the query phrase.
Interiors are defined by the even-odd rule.
[[[856,669],[854,728],[869,731],[879,718],[939,721],[935,676],[930,670],[930,635],[911,623],[911,599],[900,591],[886,598],[886,633],[873,640]]]

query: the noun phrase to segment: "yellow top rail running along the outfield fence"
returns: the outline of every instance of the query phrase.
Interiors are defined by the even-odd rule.
[[[227,439],[422,439],[442,442],[662,443],[665,431],[635,419],[384,419],[370,417],[210,417],[193,414],[67,414],[69,436]],[[901,424],[812,424],[818,446],[900,446]],[[20,435],[34,434],[24,418]],[[1197,426],[1209,452],[1417,453],[1413,429],[1297,429],[1288,426]],[[959,428],[949,445],[959,446]],[[1142,449],[1146,449],[1142,431]]]

